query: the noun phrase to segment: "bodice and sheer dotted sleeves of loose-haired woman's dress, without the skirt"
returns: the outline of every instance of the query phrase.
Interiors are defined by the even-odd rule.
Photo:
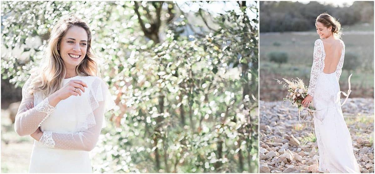
[[[115,103],[105,82],[100,78],[79,76],[70,80],[82,80],[89,87],[82,96],[62,100],[56,108],[48,104],[48,98],[36,93],[37,105],[27,110],[26,104],[33,101],[34,96],[27,93],[28,83],[25,84],[16,118],[17,126],[15,124],[20,135],[30,135],[40,127],[43,135],[39,142],[46,147],[84,151],[95,147],[104,125],[104,113],[112,109]],[[70,80],[64,79],[63,85]],[[59,123],[65,126],[58,128]]]

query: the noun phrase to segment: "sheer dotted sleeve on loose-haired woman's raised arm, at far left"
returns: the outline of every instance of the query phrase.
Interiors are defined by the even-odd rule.
[[[34,133],[55,110],[54,107],[49,105],[48,98],[45,98],[32,109],[27,109],[27,104],[34,103],[34,95],[29,94],[28,91],[30,83],[31,77],[22,88],[22,100],[14,122],[14,129],[20,136]]]

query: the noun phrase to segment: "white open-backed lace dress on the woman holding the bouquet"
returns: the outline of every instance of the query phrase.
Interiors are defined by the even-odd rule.
[[[359,165],[353,153],[352,139],[345,124],[338,97],[339,79],[344,64],[345,45],[336,71],[326,74],[324,70],[323,41],[317,39],[314,46],[314,62],[308,94],[318,110],[314,114],[315,134],[319,150],[319,171],[329,173],[359,173]]]

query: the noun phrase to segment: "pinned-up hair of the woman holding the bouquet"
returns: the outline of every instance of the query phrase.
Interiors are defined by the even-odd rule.
[[[315,23],[317,22],[322,23],[327,28],[332,26],[331,31],[333,33],[333,37],[337,39],[341,38],[342,28],[341,28],[341,24],[339,23],[338,20],[336,20],[336,18],[332,17],[328,13],[322,13],[317,17],[317,20],[315,21]]]

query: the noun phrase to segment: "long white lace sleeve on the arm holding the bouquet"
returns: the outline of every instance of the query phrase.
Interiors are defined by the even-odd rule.
[[[311,74],[310,74],[310,83],[309,83],[309,90],[308,94],[310,94],[312,97],[314,97],[315,93],[315,86],[317,85],[318,76],[321,71],[321,67],[323,66],[321,62],[321,58],[323,55],[323,48],[321,46],[320,39],[317,39],[314,44],[314,61],[312,62],[311,67]]]

